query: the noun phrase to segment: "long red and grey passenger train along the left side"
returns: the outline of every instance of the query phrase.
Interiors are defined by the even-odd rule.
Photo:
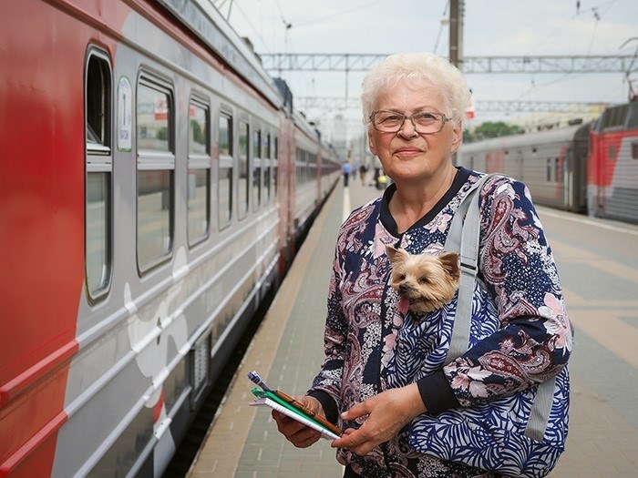
[[[0,28],[0,476],[160,476],[340,176],[208,0]]]

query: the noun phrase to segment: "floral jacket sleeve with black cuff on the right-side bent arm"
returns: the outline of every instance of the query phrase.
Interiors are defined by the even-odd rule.
[[[525,390],[558,374],[571,353],[558,271],[530,191],[497,177],[480,194],[479,276],[496,302],[501,328],[444,367],[454,397],[428,394],[440,374],[419,381],[431,412]]]

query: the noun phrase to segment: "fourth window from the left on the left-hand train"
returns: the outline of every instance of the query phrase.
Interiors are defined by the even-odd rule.
[[[218,121],[218,145],[217,212],[219,227],[223,229],[232,219],[232,117],[226,113],[221,113]]]

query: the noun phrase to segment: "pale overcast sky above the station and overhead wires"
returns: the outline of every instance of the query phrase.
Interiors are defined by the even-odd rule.
[[[213,0],[257,53],[392,54],[429,51],[448,56],[448,0]],[[636,0],[465,0],[463,56],[633,56],[638,53]],[[633,69],[638,88],[638,58]],[[274,75],[274,73],[273,73]],[[283,72],[294,97],[360,96],[365,73]],[[475,100],[623,103],[623,73],[468,74]],[[347,91],[346,91],[347,84]],[[359,108],[308,109],[330,137],[334,116],[350,131],[362,128]],[[564,119],[564,118],[563,118]],[[589,118],[586,118],[589,119]],[[484,121],[528,126],[533,113],[476,111],[466,127]],[[349,133],[352,136],[353,133]]]

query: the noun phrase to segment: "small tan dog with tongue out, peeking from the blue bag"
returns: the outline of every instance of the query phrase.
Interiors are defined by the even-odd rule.
[[[392,263],[390,285],[399,295],[398,310],[416,313],[440,309],[454,298],[458,289],[460,269],[458,254],[443,252],[433,256],[424,252],[410,254],[405,249],[386,246]]]

